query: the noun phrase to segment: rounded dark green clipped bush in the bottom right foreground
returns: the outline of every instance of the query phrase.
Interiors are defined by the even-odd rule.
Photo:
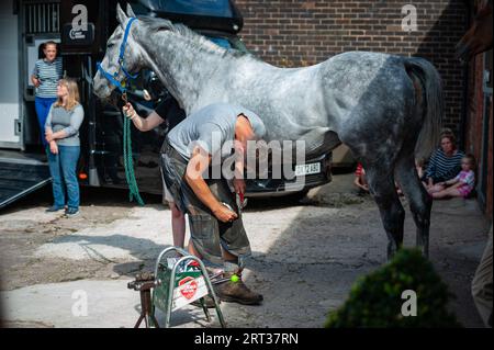
[[[460,327],[447,309],[452,296],[419,250],[401,249],[388,264],[353,284],[348,300],[328,315],[325,327]],[[412,316],[413,304],[416,316]]]

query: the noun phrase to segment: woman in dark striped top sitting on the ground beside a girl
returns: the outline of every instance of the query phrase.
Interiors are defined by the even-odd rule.
[[[463,157],[464,154],[456,147],[452,133],[442,134],[441,147],[433,153],[422,179],[427,189],[433,188],[435,183],[454,179],[461,170]]]

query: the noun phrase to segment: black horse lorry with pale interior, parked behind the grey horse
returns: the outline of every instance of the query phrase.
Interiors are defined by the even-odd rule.
[[[102,104],[92,93],[96,64],[104,56],[106,39],[117,25],[115,0],[2,1],[0,7],[0,208],[49,183],[34,111],[30,76],[41,44],[59,43],[64,75],[79,83],[85,122],[80,128],[79,182],[91,187],[126,188],[123,168],[123,116],[120,108]],[[233,0],[134,0],[137,15],[184,23],[217,45],[246,50],[237,34],[243,18]],[[144,91],[151,100],[145,99]],[[168,92],[150,71],[142,72],[128,95],[141,115],[147,115]],[[148,95],[146,98],[148,98]],[[117,105],[122,101],[116,95]],[[167,133],[160,126],[147,133],[132,127],[132,149],[139,191],[161,193],[158,153]],[[305,187],[297,194],[330,180],[330,155],[310,159],[299,167]],[[282,195],[296,179],[247,181],[247,195]],[[296,194],[295,194],[296,195]]]

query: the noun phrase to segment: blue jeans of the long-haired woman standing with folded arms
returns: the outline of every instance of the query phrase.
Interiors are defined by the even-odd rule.
[[[47,147],[46,153],[52,174],[54,205],[57,207],[65,206],[65,192],[67,191],[67,206],[78,210],[79,182],[77,181],[76,168],[79,160],[80,146],[58,146],[58,155],[52,154],[49,147]]]

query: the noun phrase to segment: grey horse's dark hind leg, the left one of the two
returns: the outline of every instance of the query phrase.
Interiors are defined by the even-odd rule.
[[[393,172],[391,170],[390,173],[390,168],[367,166],[366,177],[388,235],[388,259],[391,259],[403,244],[405,211],[396,193]]]

